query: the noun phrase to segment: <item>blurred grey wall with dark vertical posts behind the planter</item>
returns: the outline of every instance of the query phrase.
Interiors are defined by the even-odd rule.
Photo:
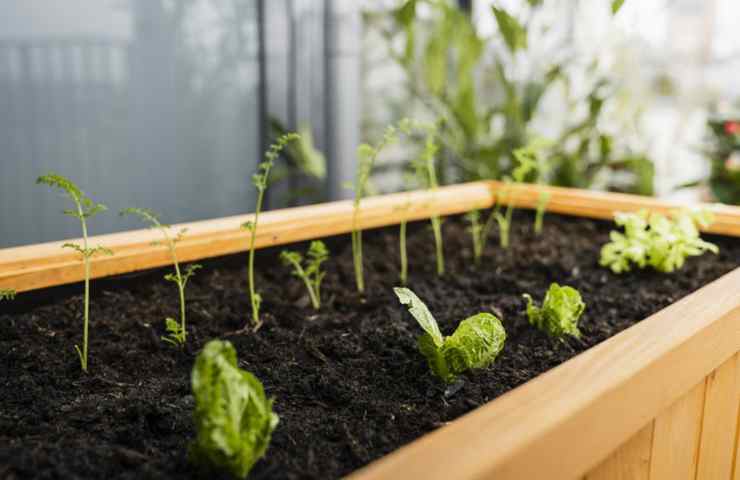
[[[79,235],[34,185],[48,170],[110,207],[94,233],[139,227],[127,206],[171,223],[251,211],[270,117],[311,125],[329,170],[312,198],[340,196],[359,140],[356,3],[0,0],[0,248]],[[270,206],[304,203],[303,183]]]

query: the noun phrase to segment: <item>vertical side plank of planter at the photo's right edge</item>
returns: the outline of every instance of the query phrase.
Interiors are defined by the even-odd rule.
[[[729,479],[738,415],[738,355],[707,377],[697,480]]]

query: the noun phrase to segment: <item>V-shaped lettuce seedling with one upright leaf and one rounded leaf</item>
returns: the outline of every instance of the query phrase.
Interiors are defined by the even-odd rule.
[[[393,291],[424,330],[417,340],[419,350],[430,370],[443,381],[450,383],[467,370],[486,368],[504,348],[506,331],[501,321],[490,313],[463,320],[452,335],[444,337],[437,321],[414,292],[398,287]]]

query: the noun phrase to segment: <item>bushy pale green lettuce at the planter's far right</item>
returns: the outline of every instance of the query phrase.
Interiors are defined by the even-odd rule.
[[[699,235],[698,226],[707,227],[712,221],[707,211],[678,210],[671,212],[670,218],[646,210],[617,213],[614,222],[624,227],[624,233],[609,233],[611,241],[601,248],[599,263],[614,273],[628,272],[634,265],[673,272],[683,267],[688,257],[719,252]]]

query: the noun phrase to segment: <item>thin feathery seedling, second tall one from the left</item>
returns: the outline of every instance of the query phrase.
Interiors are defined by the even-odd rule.
[[[175,283],[180,294],[180,322],[178,323],[174,318],[166,318],[165,328],[167,329],[168,335],[166,337],[162,337],[162,340],[175,346],[182,346],[187,340],[187,326],[185,324],[185,287],[187,286],[190,277],[195,274],[195,271],[201,268],[201,265],[190,264],[185,267],[184,272],[180,269],[180,262],[177,260],[177,244],[185,237],[187,229],[182,228],[174,237],[171,236],[170,226],[163,225],[157,214],[146,208],[126,208],[121,211],[121,215],[136,215],[145,223],[149,224],[150,228],[157,229],[162,234],[163,241],[155,241],[152,242],[152,244],[164,245],[167,250],[169,250],[172,264],[175,267],[175,273],[168,273],[164,278],[167,281]]]

